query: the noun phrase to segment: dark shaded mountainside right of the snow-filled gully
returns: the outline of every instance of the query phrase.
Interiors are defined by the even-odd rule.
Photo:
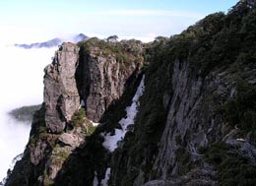
[[[255,184],[255,9],[238,10],[147,49],[146,90],[110,185]]]

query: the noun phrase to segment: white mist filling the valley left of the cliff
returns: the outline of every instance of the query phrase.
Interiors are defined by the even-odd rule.
[[[0,181],[13,158],[24,152],[31,130],[31,123],[18,122],[8,112],[42,102],[43,69],[56,49],[0,46]]]

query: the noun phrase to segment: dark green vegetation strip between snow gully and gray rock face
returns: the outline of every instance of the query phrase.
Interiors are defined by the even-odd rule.
[[[122,175],[117,178],[119,185],[133,183],[139,170],[144,171],[146,176],[150,176],[153,170],[153,158],[158,153],[158,143],[167,115],[163,94],[172,93],[170,76],[172,62],[169,52],[168,41],[165,38],[146,45],[144,52],[145,58],[147,57],[145,60],[147,66],[144,68],[146,90],[140,98],[134,130],[127,132],[122,148],[113,155],[113,159],[116,159],[113,166],[128,167],[117,170],[118,174]],[[122,156],[121,162],[118,162],[118,156]]]

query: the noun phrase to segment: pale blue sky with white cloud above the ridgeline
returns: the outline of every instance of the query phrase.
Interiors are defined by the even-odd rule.
[[[238,0],[8,0],[0,2],[0,38],[30,42],[84,32],[144,40],[183,31]]]

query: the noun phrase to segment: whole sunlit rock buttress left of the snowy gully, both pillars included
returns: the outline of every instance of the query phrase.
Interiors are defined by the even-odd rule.
[[[123,43],[104,44],[107,50],[120,48],[119,53],[98,55],[98,48],[93,45],[85,50],[83,43],[81,49],[76,44],[63,43],[56,51],[44,70],[44,103],[34,115],[30,142],[7,185],[53,184],[59,171],[65,170],[69,156],[87,146],[87,138],[96,128],[91,120],[99,121],[109,105],[113,107],[125,90],[134,86],[142,68],[142,61],[136,61],[141,59],[142,50],[128,55],[122,50]],[[133,47],[133,43],[130,45]],[[117,54],[125,56],[125,61]]]

